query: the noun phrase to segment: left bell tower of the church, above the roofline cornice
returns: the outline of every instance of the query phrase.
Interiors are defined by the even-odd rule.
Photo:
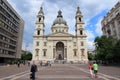
[[[36,18],[36,27],[35,27],[35,36],[43,36],[44,35],[44,13],[43,8],[40,7],[40,11],[38,12]]]

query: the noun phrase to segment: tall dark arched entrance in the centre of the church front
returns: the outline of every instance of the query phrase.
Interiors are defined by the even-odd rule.
[[[62,42],[56,44],[56,60],[64,60],[64,44]]]

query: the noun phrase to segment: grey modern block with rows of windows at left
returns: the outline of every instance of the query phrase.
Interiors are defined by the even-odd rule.
[[[7,0],[0,0],[0,63],[20,58],[24,21]]]

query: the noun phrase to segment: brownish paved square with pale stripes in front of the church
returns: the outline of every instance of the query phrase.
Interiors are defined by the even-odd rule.
[[[1,69],[0,80],[30,80],[30,67],[28,66],[6,67],[7,72]],[[53,64],[52,67],[38,66],[38,69],[36,80],[120,80],[119,67],[99,66],[98,78],[90,78],[88,65],[82,64]],[[4,74],[1,75],[1,71],[4,71]]]

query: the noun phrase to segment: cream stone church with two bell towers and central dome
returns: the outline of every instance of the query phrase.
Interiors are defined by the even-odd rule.
[[[38,12],[34,31],[33,58],[36,61],[87,62],[86,33],[79,7],[76,11],[76,35],[68,32],[67,22],[59,10],[51,27],[51,34],[44,35],[44,13]]]

